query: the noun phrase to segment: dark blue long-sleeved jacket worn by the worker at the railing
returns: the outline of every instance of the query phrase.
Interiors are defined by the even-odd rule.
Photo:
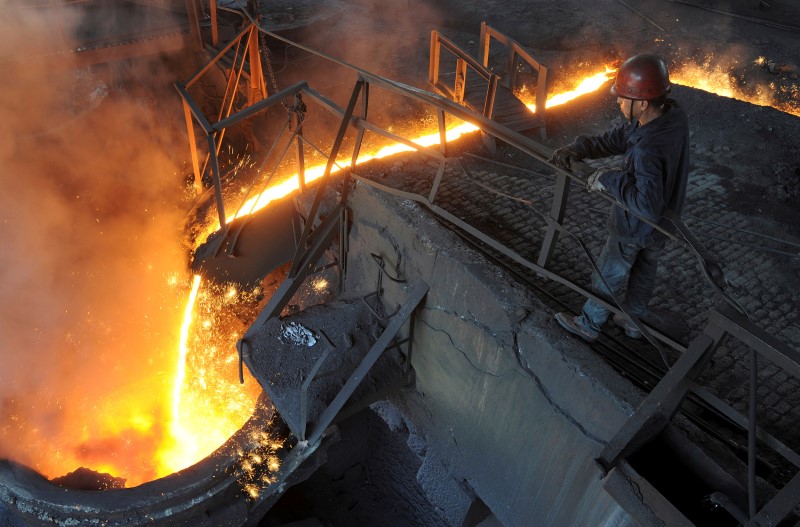
[[[633,214],[612,206],[608,228],[620,241],[641,247],[663,245],[666,236],[639,217],[672,231],[662,214],[671,209],[680,215],[686,197],[689,121],[674,99],[664,109],[644,126],[622,123],[599,136],[579,136],[573,145],[583,159],[624,154],[624,168],[606,172],[600,183]]]

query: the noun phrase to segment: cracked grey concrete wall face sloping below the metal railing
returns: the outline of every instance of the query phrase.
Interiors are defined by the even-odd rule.
[[[585,348],[541,327],[538,299],[416,205],[360,184],[351,200],[346,290],[374,287],[371,254],[402,262],[406,283],[384,282],[387,305],[415,281],[431,285],[414,332],[418,396],[392,398],[424,435],[426,462],[443,467],[424,475],[433,478],[423,485],[429,497],[448,499],[443,489],[464,481],[506,525],[600,525],[620,514],[594,458],[641,394]],[[465,503],[451,498],[446,503]],[[453,525],[465,514],[448,511]]]

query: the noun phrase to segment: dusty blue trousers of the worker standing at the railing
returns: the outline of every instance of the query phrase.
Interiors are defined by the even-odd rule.
[[[613,234],[597,259],[597,268],[605,279],[600,279],[597,271],[592,272],[592,287],[600,294],[619,298],[625,286],[625,303],[633,315],[642,318],[647,314],[647,304],[653,296],[658,259],[662,247],[641,247],[623,243]],[[606,287],[606,284],[608,287]],[[608,320],[609,310],[594,300],[583,304],[581,315],[576,321],[593,334],[600,333],[600,326]]]

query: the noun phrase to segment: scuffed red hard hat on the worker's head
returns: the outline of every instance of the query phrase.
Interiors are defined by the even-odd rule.
[[[648,101],[669,93],[669,71],[657,55],[635,55],[625,62],[617,72],[617,80],[611,94],[625,99]]]

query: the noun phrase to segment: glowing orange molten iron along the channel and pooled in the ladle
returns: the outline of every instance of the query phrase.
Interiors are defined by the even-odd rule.
[[[574,89],[552,95],[547,106],[564,104],[593,92],[613,78],[613,74],[613,69],[605,68],[590,75],[576,83]],[[674,80],[708,89],[708,77],[705,71],[693,80],[684,69]],[[520,95],[525,96],[524,92]],[[449,130],[447,138],[453,140],[474,130],[470,124],[462,124]],[[438,133],[414,140],[422,146],[436,145],[438,141]],[[358,162],[410,150],[403,144],[390,145],[361,155]],[[321,177],[324,170],[322,165],[306,169],[306,180],[310,182]],[[245,203],[228,219],[251,214],[298,187],[297,175],[290,177]],[[148,381],[135,381],[138,384],[134,390],[112,394],[106,401],[98,402],[95,412],[101,415],[96,416],[96,424],[91,428],[84,425],[74,438],[38,442],[33,446],[40,453],[36,462],[29,464],[48,477],[88,465],[98,472],[126,478],[127,486],[135,486],[188,467],[219,447],[250,417],[261,392],[252,378],[241,386],[234,373],[235,342],[246,329],[229,314],[231,305],[239,298],[236,291],[212,292],[209,287],[203,287],[199,276],[194,277],[177,339],[177,357],[173,355],[168,359],[171,364],[151,366],[167,374],[155,375]],[[170,375],[173,370],[174,374]],[[132,391],[134,394],[130,393]],[[148,405],[150,410],[147,410]],[[73,441],[80,445],[90,439],[97,444],[98,439],[93,435],[100,435],[101,444],[107,438],[114,444],[123,443],[125,448],[76,454],[80,446],[68,444]],[[70,450],[73,452],[68,452]]]

